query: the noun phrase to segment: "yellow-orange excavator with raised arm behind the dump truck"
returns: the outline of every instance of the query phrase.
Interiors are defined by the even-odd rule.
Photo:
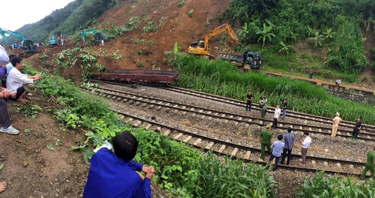
[[[228,34],[236,41],[238,42],[237,36],[234,34],[234,31],[232,30],[231,26],[228,24],[223,24],[220,27],[212,30],[209,34],[207,34],[204,37],[204,41],[200,42],[193,42],[189,46],[188,52],[190,54],[195,54],[195,55],[204,55],[208,57],[215,57],[214,55],[210,54],[211,52],[211,45],[209,43],[209,39],[217,34],[220,34],[224,31],[228,31]]]

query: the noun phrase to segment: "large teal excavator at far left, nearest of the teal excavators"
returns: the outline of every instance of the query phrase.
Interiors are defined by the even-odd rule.
[[[13,31],[10,31],[10,30],[6,30],[6,29],[2,29],[0,28],[0,35],[2,36],[3,38],[3,41],[9,45],[9,42],[8,42],[8,39],[7,37],[5,36],[5,34],[8,34],[8,35],[12,35],[12,36],[15,36],[15,37],[18,37],[18,38],[21,38],[22,40],[22,43],[21,43],[21,49],[22,49],[22,53],[18,54],[18,57],[29,57],[31,56],[32,54],[34,53],[38,53],[40,52],[39,51],[39,47],[37,44],[34,44],[30,38],[26,39],[25,36],[23,36],[21,33],[18,33],[18,32],[13,32]]]

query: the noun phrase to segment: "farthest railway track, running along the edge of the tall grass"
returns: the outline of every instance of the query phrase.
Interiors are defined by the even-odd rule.
[[[238,100],[235,100],[233,98],[222,97],[222,96],[218,96],[218,95],[213,95],[213,94],[209,94],[209,93],[183,89],[183,88],[174,87],[174,86],[168,86],[168,87],[165,87],[163,89],[168,90],[168,91],[174,91],[174,92],[178,92],[178,93],[193,95],[193,96],[205,98],[205,99],[216,101],[216,102],[231,104],[231,105],[235,105],[235,106],[242,107],[242,108],[246,107],[246,102],[238,101]],[[252,108],[252,110],[260,111],[260,109],[258,108],[258,104],[253,103],[251,105],[251,108]],[[267,112],[273,114],[274,108],[268,107]],[[322,117],[322,116],[317,116],[317,115],[309,115],[309,114],[305,114],[305,113],[301,113],[301,112],[291,111],[289,109],[287,111],[287,116],[288,117],[294,117],[294,118],[300,118],[300,119],[303,118],[303,119],[315,121],[315,122],[318,122],[318,123],[332,125],[332,118],[327,118],[327,117]],[[355,125],[355,123],[349,122],[349,121],[342,121],[340,123],[340,127],[354,127],[354,125]],[[373,133],[375,133],[375,126],[366,125],[366,130],[372,131]],[[364,129],[362,131],[364,131]]]

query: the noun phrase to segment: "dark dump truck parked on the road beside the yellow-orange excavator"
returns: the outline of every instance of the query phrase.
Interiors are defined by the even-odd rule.
[[[264,64],[263,54],[259,52],[246,51],[242,54],[219,52],[217,53],[217,58],[229,61],[233,65],[243,69],[258,69]]]

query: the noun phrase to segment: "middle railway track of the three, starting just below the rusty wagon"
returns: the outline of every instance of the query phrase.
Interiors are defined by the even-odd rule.
[[[129,93],[129,92],[122,92],[113,89],[107,89],[102,87],[90,87],[88,88],[90,91],[98,92],[102,95],[105,95],[107,98],[112,98],[113,100],[129,102],[130,104],[135,105],[151,105],[152,108],[166,108],[168,110],[173,109],[174,111],[181,111],[182,114],[191,113],[194,116],[200,115],[202,118],[207,118],[208,120],[212,120],[213,118],[222,120],[224,123],[228,123],[229,121],[234,121],[237,124],[239,122],[253,124],[258,126],[264,126],[265,122],[270,122],[269,120],[259,118],[259,117],[252,117],[247,115],[240,115],[230,112],[223,112],[213,109],[207,109],[192,105],[181,104],[177,102],[165,101],[154,97],[148,97],[144,95]],[[331,128],[330,127],[320,127],[320,126],[311,126],[311,125],[304,125],[304,124],[295,124],[295,123],[287,123],[287,122],[278,122],[278,128],[280,129],[287,129],[291,127],[294,131],[309,131],[310,133],[315,134],[323,134],[323,135],[331,135]],[[351,130],[339,130],[337,131],[336,136],[343,136],[343,137],[351,137]],[[365,141],[375,141],[375,133],[366,133],[362,132],[361,136],[358,137],[360,140]]]

